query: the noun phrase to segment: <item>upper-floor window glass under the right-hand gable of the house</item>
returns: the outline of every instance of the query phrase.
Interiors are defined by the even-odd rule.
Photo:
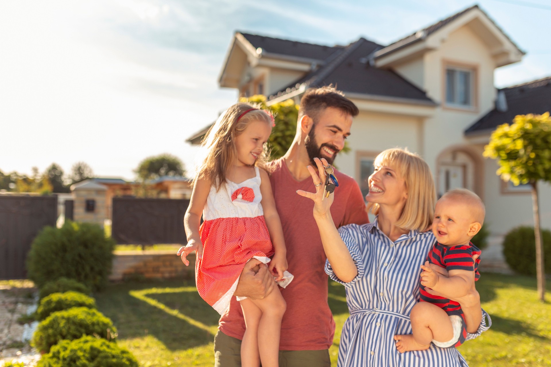
[[[472,107],[474,105],[474,70],[446,67],[446,105]]]

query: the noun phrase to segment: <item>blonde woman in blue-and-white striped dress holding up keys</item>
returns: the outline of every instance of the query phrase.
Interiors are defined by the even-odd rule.
[[[314,184],[323,183],[322,164],[327,166],[327,161],[316,158],[316,164],[319,176],[312,167],[310,174]],[[422,158],[402,149],[383,151],[374,166],[366,200],[377,216],[370,224],[350,224],[337,231],[329,211],[333,195],[322,201],[323,185],[315,194],[297,191],[314,200],[314,218],[327,255],[325,271],[346,287],[350,317],[343,326],[338,366],[466,367],[455,348],[431,344],[429,349],[413,352],[396,349],[394,336],[412,333],[409,313],[419,300],[420,265],[435,242],[429,231],[434,181]],[[480,309],[474,284],[469,294],[454,300],[466,317],[467,340],[488,330],[491,321]]]

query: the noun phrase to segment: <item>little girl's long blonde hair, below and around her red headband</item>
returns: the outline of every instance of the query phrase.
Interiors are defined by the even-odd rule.
[[[251,108],[258,109],[253,109],[241,116]],[[264,121],[272,125],[271,115],[253,103],[236,103],[218,117],[201,143],[207,147],[208,154],[202,165],[199,166],[196,180],[208,179],[217,190],[226,184],[228,170],[237,158],[235,138],[241,135],[252,121]],[[267,150],[264,148],[262,154],[257,158],[255,166],[264,168],[266,157]]]

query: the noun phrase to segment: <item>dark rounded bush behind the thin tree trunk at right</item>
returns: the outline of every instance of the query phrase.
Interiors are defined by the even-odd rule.
[[[551,232],[542,231],[544,269],[551,273]],[[509,267],[524,275],[536,275],[536,236],[534,227],[511,229],[503,240],[503,255]]]

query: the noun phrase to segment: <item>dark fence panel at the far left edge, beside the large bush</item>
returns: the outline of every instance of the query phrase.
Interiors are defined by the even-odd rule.
[[[0,195],[0,279],[26,278],[31,242],[56,218],[57,196]]]

